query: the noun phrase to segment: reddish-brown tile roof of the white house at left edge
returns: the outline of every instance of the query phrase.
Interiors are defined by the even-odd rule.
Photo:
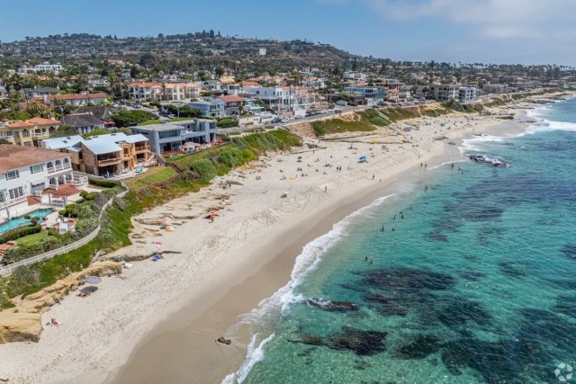
[[[0,144],[0,174],[22,166],[40,164],[63,157],[67,155],[54,149]]]

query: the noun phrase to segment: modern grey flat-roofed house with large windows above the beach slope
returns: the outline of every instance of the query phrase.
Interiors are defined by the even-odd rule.
[[[222,104],[223,105],[223,104]],[[216,138],[218,127],[214,120],[194,119],[170,124],[151,124],[132,127],[132,132],[149,140],[152,152],[161,155],[174,151],[185,143],[208,144]]]

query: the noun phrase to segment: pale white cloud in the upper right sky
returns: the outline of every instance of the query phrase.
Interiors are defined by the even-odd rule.
[[[437,18],[498,39],[576,38],[574,0],[363,0],[385,18]]]

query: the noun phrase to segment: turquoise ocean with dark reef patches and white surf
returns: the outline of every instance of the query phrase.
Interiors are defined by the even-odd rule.
[[[306,246],[224,381],[576,382],[576,98],[528,115]]]

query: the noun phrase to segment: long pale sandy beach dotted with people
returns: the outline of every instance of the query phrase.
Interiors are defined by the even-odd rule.
[[[125,279],[103,278],[90,297],[68,296],[49,308],[42,324],[54,317],[60,326],[45,326],[39,343],[0,345],[0,379],[220,382],[246,357],[250,335],[234,327],[238,316],[290,280],[302,246],[393,192],[404,175],[426,172],[420,164],[463,160],[461,139],[522,131],[527,105],[494,108],[488,116],[402,121],[394,131],[357,138],[305,139],[318,147],[261,157],[201,192],[139,215],[133,246],[115,255],[159,250],[164,258],[135,262]],[[505,121],[499,113],[517,117]],[[419,129],[404,132],[407,125]],[[360,156],[367,163],[358,163]],[[203,218],[215,209],[213,222]],[[215,343],[221,335],[232,344]]]

